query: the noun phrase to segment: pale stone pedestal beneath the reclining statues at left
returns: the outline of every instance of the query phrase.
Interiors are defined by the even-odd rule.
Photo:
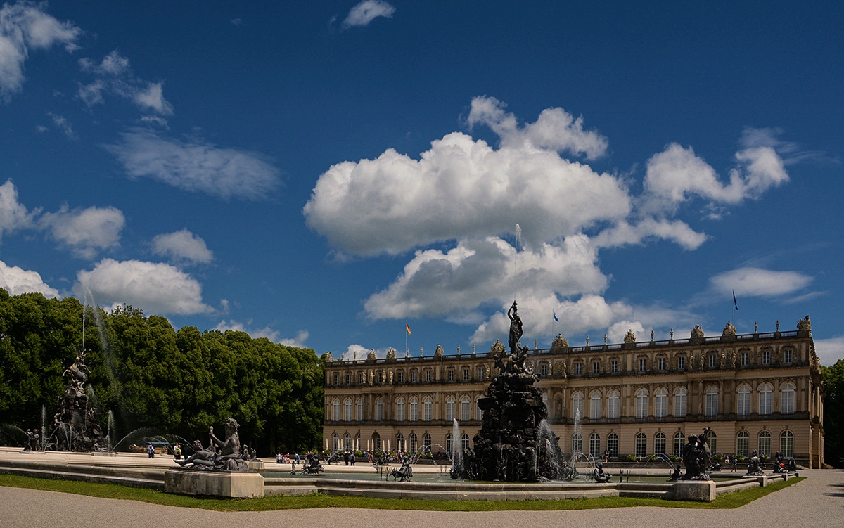
[[[264,485],[263,477],[258,473],[179,468],[165,471],[164,490],[166,493],[181,495],[257,498],[263,497]]]

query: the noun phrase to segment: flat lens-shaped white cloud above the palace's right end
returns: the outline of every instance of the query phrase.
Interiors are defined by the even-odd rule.
[[[728,296],[776,297],[792,294],[809,285],[813,277],[800,272],[775,272],[759,267],[740,267],[709,279],[717,293]]]

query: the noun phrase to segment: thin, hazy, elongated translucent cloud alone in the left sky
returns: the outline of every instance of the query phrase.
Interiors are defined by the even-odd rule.
[[[130,177],[153,178],[182,191],[261,200],[279,187],[279,170],[265,156],[197,138],[180,141],[136,128],[106,149]]]

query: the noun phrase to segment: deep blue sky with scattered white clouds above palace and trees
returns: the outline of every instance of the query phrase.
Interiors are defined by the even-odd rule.
[[[335,358],[734,291],[844,358],[844,8],[581,4],[3,4],[0,282]]]

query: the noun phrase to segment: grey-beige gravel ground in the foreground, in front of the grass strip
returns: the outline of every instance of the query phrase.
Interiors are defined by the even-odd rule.
[[[132,500],[84,497],[0,487],[0,525],[8,528],[178,528],[248,526],[337,528],[410,525],[414,528],[497,528],[512,526],[844,526],[844,471],[801,471],[809,477],[739,509],[619,508],[578,511],[431,512],[383,509],[297,509],[266,512],[214,512]]]

